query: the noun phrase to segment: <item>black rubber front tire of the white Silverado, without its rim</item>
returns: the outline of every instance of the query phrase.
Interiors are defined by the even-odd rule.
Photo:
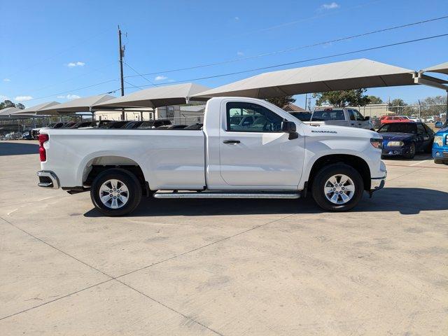
[[[335,176],[337,174],[348,176],[351,181],[353,181],[355,187],[351,200],[344,204],[332,203],[325,196],[325,183],[328,181],[328,179],[330,179],[331,176]],[[348,211],[352,209],[356,206],[356,204],[358,204],[361,197],[363,197],[363,191],[363,178],[360,176],[356,169],[350,167],[349,165],[344,165],[343,163],[335,163],[327,167],[323,167],[316,174],[316,176],[314,176],[311,188],[311,193],[318,206],[327,211]]]

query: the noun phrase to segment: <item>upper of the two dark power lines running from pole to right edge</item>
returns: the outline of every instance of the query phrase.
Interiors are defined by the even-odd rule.
[[[138,76],[150,76],[150,75],[156,75],[158,73],[171,73],[171,72],[177,72],[177,71],[200,69],[200,68],[205,68],[205,67],[208,67],[208,66],[229,64],[229,63],[234,63],[234,62],[239,62],[239,61],[246,61],[248,59],[255,59],[255,58],[260,58],[260,57],[265,57],[265,56],[270,56],[270,55],[278,55],[278,54],[281,54],[283,52],[290,52],[290,51],[295,51],[295,50],[300,50],[300,49],[305,49],[305,48],[312,48],[312,47],[316,47],[318,45],[325,45],[325,44],[328,44],[328,43],[336,43],[336,42],[346,41],[346,40],[349,40],[351,38],[358,38],[358,37],[368,36],[368,35],[372,35],[372,34],[378,34],[378,33],[384,32],[384,31],[391,31],[391,30],[405,28],[405,27],[412,27],[414,25],[422,25],[424,23],[434,22],[434,21],[437,21],[437,20],[444,20],[444,19],[447,19],[447,18],[448,18],[448,15],[444,15],[444,16],[441,16],[439,18],[422,20],[422,21],[418,21],[418,22],[408,23],[406,25],[400,25],[400,26],[395,26],[395,27],[388,27],[388,28],[384,28],[384,29],[378,29],[378,30],[374,30],[374,31],[368,31],[367,33],[356,34],[356,35],[346,36],[346,37],[342,37],[342,38],[336,38],[334,40],[325,41],[325,42],[313,43],[313,44],[309,44],[309,45],[302,45],[302,46],[288,48],[288,49],[284,49],[284,50],[278,50],[278,51],[274,51],[274,52],[264,52],[262,54],[248,56],[248,57],[239,57],[239,58],[235,58],[235,59],[228,59],[227,61],[223,61],[223,62],[214,62],[214,63],[209,63],[209,64],[200,64],[200,65],[196,65],[196,66],[188,66],[188,67],[179,68],[179,69],[168,69],[168,70],[165,70],[165,71],[157,71],[157,72],[151,72],[151,73],[143,73],[143,74],[139,73]],[[137,75],[125,76],[125,78],[130,78],[130,77],[137,77]]]

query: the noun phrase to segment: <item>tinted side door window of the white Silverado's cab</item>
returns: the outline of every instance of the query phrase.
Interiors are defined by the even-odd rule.
[[[245,102],[226,104],[229,132],[280,132],[283,118],[264,106]]]

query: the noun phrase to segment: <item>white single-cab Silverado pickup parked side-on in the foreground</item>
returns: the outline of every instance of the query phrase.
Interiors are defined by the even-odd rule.
[[[245,115],[256,118],[233,118]],[[90,190],[108,216],[130,213],[142,195],[292,199],[307,191],[323,209],[346,211],[386,179],[378,133],[311,127],[259,99],[210,99],[202,130],[45,129],[39,137],[38,186]]]

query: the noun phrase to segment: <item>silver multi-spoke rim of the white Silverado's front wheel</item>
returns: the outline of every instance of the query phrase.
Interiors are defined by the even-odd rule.
[[[323,193],[333,204],[346,204],[355,195],[355,183],[344,174],[337,174],[325,182]]]

